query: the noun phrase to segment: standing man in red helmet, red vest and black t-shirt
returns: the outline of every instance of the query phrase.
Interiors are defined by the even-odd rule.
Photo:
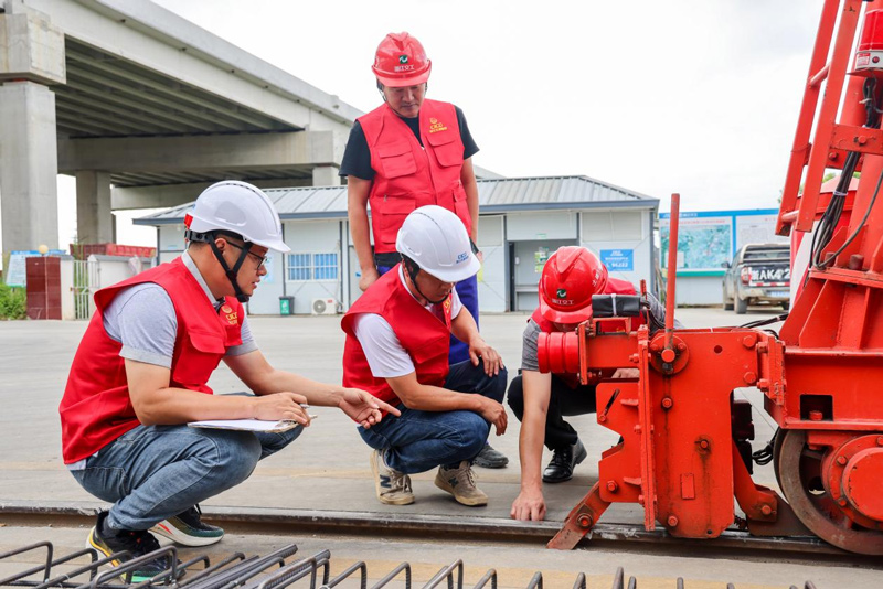
[[[471,161],[478,146],[462,110],[426,98],[432,62],[421,42],[408,33],[390,33],[383,39],[372,71],[384,104],[355,121],[340,165],[340,175],[347,178],[350,232],[362,290],[398,263],[396,235],[408,213],[421,206],[435,204],[455,213],[481,260],[475,246],[478,185]],[[457,293],[478,323],[476,277],[459,282]],[[450,363],[467,360],[469,346],[451,336]],[[476,464],[501,468],[508,462],[488,446]]]

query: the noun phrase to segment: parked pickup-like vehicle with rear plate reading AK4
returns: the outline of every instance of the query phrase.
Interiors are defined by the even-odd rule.
[[[749,304],[790,307],[791,250],[788,244],[742,246],[733,263],[724,263],[724,309],[744,314]]]

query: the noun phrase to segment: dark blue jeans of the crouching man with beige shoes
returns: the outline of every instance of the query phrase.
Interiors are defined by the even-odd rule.
[[[471,362],[460,362],[450,367],[445,388],[502,403],[506,382],[506,368],[497,376],[488,376],[483,364],[472,366]],[[385,451],[389,467],[405,474],[471,461],[490,433],[490,424],[472,411],[422,411],[401,404],[398,409],[401,417],[386,416],[371,429],[360,426],[359,433],[371,448]]]

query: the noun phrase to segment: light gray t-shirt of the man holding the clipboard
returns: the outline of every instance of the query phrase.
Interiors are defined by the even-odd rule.
[[[187,251],[181,258],[209,301],[215,309],[220,309],[224,299],[215,300]],[[120,357],[172,367],[178,318],[169,293],[161,286],[145,282],[121,290],[104,311],[104,329],[111,340],[123,344]],[[243,317],[242,344],[227,350],[226,355],[238,356],[254,350],[257,350],[257,344],[248,326],[248,318]]]

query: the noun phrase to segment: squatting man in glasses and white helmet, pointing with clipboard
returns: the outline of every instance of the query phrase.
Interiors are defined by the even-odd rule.
[[[109,556],[157,549],[152,529],[185,546],[219,542],[223,529],[196,504],[243,482],[262,458],[302,427],[253,433],[187,427],[202,419],[291,419],[310,425],[306,404],[337,406],[370,428],[397,411],[364,390],[273,368],[255,344],[242,303],[269,249],[288,251],[273,203],[259,189],[225,181],[208,188],[185,221],[188,249],[95,293],[96,312],[62,398],[62,453],[71,473],[113,503],[88,544]],[[213,396],[221,361],[254,396]],[[141,566],[152,577],[167,557]]]

